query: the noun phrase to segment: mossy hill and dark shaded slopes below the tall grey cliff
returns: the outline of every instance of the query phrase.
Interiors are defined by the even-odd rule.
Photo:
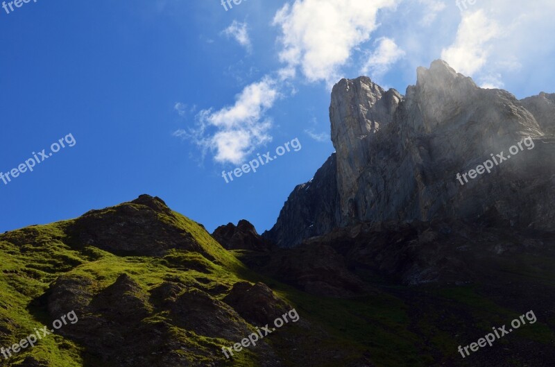
[[[246,221],[219,232],[238,249],[226,250],[198,223],[143,195],[1,234],[6,358],[0,365],[547,367],[555,361],[553,232],[364,223],[291,249],[246,249],[267,244]],[[459,355],[459,345],[530,312],[537,322],[467,359]],[[288,323],[275,323],[284,315]],[[62,325],[65,316],[72,322]],[[57,322],[61,327],[34,348],[14,352],[15,343]],[[258,332],[264,338],[242,348]],[[234,355],[228,359],[222,348]]]

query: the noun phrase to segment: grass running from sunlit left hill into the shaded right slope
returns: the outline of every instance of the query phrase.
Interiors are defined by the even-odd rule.
[[[33,226],[1,235],[0,257],[3,260],[0,263],[0,345],[6,347],[31,334],[35,327],[42,328],[43,323],[40,320],[44,322],[47,319],[41,314],[44,310],[33,309],[30,305],[59,275],[71,274],[90,278],[100,291],[112,284],[121,273],[128,273],[146,290],[160,285],[168,275],[179,278],[183,284],[190,287],[199,285],[199,279],[203,280],[202,287],[208,288],[221,284],[230,287],[239,280],[266,282],[279,296],[296,307],[301,318],[318,325],[332,336],[327,341],[319,341],[318,348],[352,350],[353,360],[368,351],[376,366],[430,366],[434,361],[438,362],[438,353],[456,354],[456,343],[452,340],[450,332],[438,329],[432,319],[413,319],[410,302],[400,294],[402,289],[384,290],[373,296],[355,300],[311,296],[252,273],[239,262],[234,253],[223,250],[197,223],[180,214],[174,214],[160,214],[160,220],[193,234],[205,251],[214,257],[214,262],[207,261],[197,253],[177,250],[171,251],[164,258],[157,258],[119,257],[94,247],[71,248],[65,228],[71,225],[72,221]],[[205,270],[187,270],[191,265],[200,266]],[[538,276],[533,269],[527,268],[526,271],[526,276]],[[540,274],[541,278],[553,279],[552,272],[543,272]],[[498,307],[486,297],[479,296],[475,289],[470,287],[432,289],[430,292],[445,302],[457,302],[472,317],[488,320],[492,325],[502,325],[517,316],[514,311]],[[164,314],[158,314],[144,322],[155,323],[165,317]],[[544,343],[553,338],[551,330],[541,326],[539,322],[536,325],[538,327],[534,332],[523,329],[521,337]],[[484,331],[490,329],[490,326],[485,323],[480,325]],[[8,330],[11,335],[1,336],[6,334],[2,331]],[[299,333],[299,336],[306,340],[305,347],[309,347],[310,335],[302,335],[305,331],[300,328],[290,327],[288,330],[291,333]],[[194,343],[207,350],[219,350],[222,345],[236,342],[205,338],[177,327],[173,333],[176,339]],[[306,352],[280,352],[279,341],[268,341],[276,343],[278,354],[287,361],[286,366],[296,366],[296,353]],[[0,365],[17,366],[28,355],[38,360],[47,360],[51,366],[83,366],[83,349],[59,335],[49,336],[35,348],[20,352],[8,361],[0,361]],[[231,365],[248,367],[259,364],[255,351],[249,349],[237,354],[237,359],[234,359],[233,363],[230,362]],[[329,364],[322,365],[325,366],[337,366],[337,361],[330,360]]]

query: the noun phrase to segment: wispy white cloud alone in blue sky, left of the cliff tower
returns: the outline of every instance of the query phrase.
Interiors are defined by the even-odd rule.
[[[271,78],[263,78],[248,85],[237,95],[234,105],[198,114],[198,126],[189,133],[178,130],[174,135],[187,136],[204,151],[214,152],[216,162],[244,162],[255,148],[271,142],[268,130],[271,120],[266,111],[279,96],[278,87]]]

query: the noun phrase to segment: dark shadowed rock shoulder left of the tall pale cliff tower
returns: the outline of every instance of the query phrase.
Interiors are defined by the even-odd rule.
[[[280,247],[330,232],[339,225],[336,155],[332,154],[309,182],[295,187],[273,228],[262,237]]]

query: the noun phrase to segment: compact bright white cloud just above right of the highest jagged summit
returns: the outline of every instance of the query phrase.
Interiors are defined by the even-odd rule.
[[[484,10],[463,12],[462,17],[454,44],[441,51],[441,58],[459,73],[472,75],[488,61],[490,42],[502,35],[502,29]]]

